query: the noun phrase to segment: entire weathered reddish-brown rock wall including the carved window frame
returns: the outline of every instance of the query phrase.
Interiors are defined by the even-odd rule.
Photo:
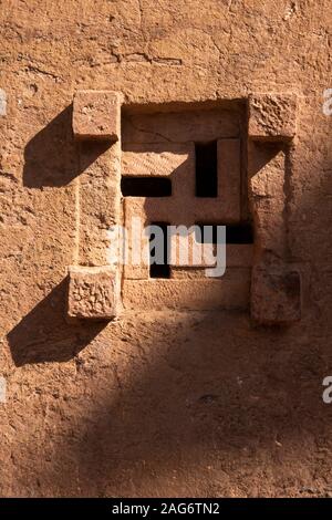
[[[1,7],[0,495],[329,493],[330,2]],[[135,211],[253,243],[152,281],[108,267]]]

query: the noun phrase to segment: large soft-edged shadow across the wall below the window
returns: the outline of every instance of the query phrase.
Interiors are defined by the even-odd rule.
[[[322,238],[331,254],[328,228],[312,214],[331,216],[328,173],[321,191],[307,195],[292,216],[300,241],[308,233],[302,216],[313,215],[315,243],[302,251],[313,259]],[[59,447],[56,460],[76,470],[80,490],[60,481],[60,462],[48,472],[59,495],[330,493],[332,405],[322,401],[322,381],[332,372],[332,277],[315,269],[303,288],[305,316],[290,327],[253,327],[239,312],[127,316],[94,379],[94,405],[76,409],[77,438]],[[101,334],[97,364],[104,342]],[[80,357],[89,382],[91,363]]]

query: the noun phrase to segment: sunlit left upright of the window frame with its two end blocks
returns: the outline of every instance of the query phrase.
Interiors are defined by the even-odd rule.
[[[73,100],[73,133],[82,143],[70,320],[111,320],[120,306],[120,272],[107,264],[107,231],[120,217],[121,104],[122,94],[111,91],[79,91]]]

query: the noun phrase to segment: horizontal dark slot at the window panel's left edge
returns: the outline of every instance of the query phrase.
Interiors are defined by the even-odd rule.
[[[170,197],[172,181],[165,177],[122,177],[124,197]]]

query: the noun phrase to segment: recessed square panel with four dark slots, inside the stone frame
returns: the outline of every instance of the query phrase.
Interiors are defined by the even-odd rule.
[[[248,233],[246,103],[127,107],[122,114],[123,221],[144,226],[226,225],[227,270],[207,278],[207,266],[168,269],[125,266],[126,309],[247,309],[252,233]],[[163,191],[164,190],[164,191]],[[148,239],[146,239],[148,240]],[[168,252],[179,247],[172,237]]]

